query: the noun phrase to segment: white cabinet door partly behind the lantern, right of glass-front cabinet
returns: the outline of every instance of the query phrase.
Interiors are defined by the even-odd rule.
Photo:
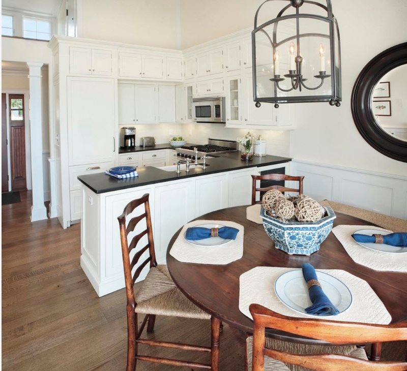
[[[261,106],[257,108],[253,101],[253,77],[251,74],[246,74],[243,78],[246,96],[243,122],[247,125],[276,126],[273,117],[273,105],[270,103],[262,103]]]

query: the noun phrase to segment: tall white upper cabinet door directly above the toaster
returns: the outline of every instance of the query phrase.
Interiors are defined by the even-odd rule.
[[[136,85],[136,122],[156,122],[155,85]]]

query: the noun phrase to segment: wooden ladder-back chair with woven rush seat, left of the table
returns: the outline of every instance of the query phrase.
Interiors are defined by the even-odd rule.
[[[143,212],[140,215],[131,218],[127,223],[128,215],[140,205],[144,205]],[[157,264],[154,250],[149,194],[145,194],[141,198],[129,202],[125,206],[124,211],[118,220],[120,225],[127,297],[127,371],[135,370],[137,359],[173,366],[206,368],[218,371],[219,334],[221,323],[218,319],[215,317],[211,318],[208,313],[203,312],[195,304],[189,301],[171,280],[166,265]],[[143,220],[146,221],[147,228],[134,235],[129,242],[128,235],[133,232],[138,223]],[[138,242],[146,235],[148,239],[147,244],[138,251],[135,250],[133,257],[131,258],[131,255],[133,254],[132,251],[137,248]],[[149,252],[148,258],[141,263],[138,263],[142,255],[147,251]],[[146,279],[141,283],[140,289],[135,294],[134,283],[147,264],[150,265],[149,273],[147,274]],[[132,273],[133,269],[135,269],[134,273]],[[146,315],[139,329],[137,329],[137,313]],[[140,338],[146,323],[148,323],[147,332],[154,331],[156,315],[193,319],[211,319],[211,347],[169,343]],[[211,364],[139,355],[137,352],[138,344],[207,352],[211,354]]]

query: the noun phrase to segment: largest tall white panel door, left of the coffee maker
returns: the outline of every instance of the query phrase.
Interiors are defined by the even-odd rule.
[[[114,161],[114,80],[67,79],[69,165]]]

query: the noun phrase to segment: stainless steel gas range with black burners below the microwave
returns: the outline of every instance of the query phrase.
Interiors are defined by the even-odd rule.
[[[218,154],[237,151],[237,147],[238,143],[236,141],[209,138],[208,144],[178,148],[177,160],[185,162],[186,159],[195,159],[195,156],[198,160],[201,160],[203,156],[206,156],[207,159],[211,159],[217,157]]]

